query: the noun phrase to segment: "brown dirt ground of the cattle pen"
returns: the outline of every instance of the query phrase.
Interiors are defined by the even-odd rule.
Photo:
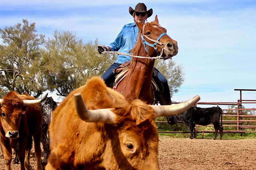
[[[34,150],[31,152],[30,164],[31,169],[35,170]],[[159,164],[163,170],[254,170],[256,169],[256,140],[191,140],[160,137]],[[19,170],[20,165],[12,163],[11,168]],[[0,170],[4,170],[2,151],[0,152]]]

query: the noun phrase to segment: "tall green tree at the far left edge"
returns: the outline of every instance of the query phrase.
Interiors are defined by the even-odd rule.
[[[39,62],[44,35],[36,32],[36,23],[29,24],[26,19],[22,24],[0,29],[3,40],[0,45],[1,95],[16,91],[37,98],[47,89]]]

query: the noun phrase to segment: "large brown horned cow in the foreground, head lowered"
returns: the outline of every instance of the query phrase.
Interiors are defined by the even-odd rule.
[[[199,99],[171,106],[128,103],[101,78],[91,78],[53,111],[45,169],[159,169],[156,116],[181,113]]]

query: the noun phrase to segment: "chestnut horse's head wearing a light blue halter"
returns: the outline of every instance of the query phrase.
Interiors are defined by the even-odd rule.
[[[140,42],[136,45],[140,44],[139,46],[141,46],[142,43],[150,57],[172,57],[178,54],[177,41],[168,36],[166,34],[166,29],[159,25],[157,15],[155,20],[150,23],[141,24],[136,21],[135,23],[138,26],[140,33],[140,36],[138,37],[138,41]],[[139,46],[138,48],[140,48]],[[136,50],[132,50],[132,52],[135,51]]]

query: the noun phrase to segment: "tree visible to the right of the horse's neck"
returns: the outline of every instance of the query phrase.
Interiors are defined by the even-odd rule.
[[[179,87],[185,80],[182,65],[175,63],[173,60],[156,60],[155,67],[167,79],[172,97],[174,93],[179,91]]]

